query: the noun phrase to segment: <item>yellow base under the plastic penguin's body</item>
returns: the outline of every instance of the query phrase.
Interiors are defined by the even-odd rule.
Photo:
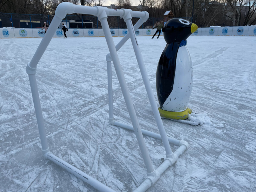
[[[170,118],[170,119],[187,119],[188,114],[192,113],[192,110],[187,108],[182,112],[172,112],[172,111],[165,111],[163,109],[158,108],[160,116],[163,118]]]

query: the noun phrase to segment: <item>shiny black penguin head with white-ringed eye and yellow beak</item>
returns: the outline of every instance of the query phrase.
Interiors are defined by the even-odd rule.
[[[186,40],[196,30],[196,24],[180,18],[170,19],[162,29],[167,44]]]

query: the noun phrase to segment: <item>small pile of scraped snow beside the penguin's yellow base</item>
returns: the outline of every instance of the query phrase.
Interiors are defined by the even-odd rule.
[[[213,126],[213,127],[223,127],[224,125],[222,123],[217,123],[214,124],[212,123],[212,120],[210,117],[207,116],[206,113],[191,113],[188,114],[188,119],[187,120],[178,120],[181,123],[185,123],[185,124],[189,124],[189,125],[203,125],[206,124],[209,127]]]

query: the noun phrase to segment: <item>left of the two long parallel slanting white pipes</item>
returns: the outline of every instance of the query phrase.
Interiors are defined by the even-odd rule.
[[[106,19],[102,19],[102,20],[100,20],[100,22],[101,22],[101,25],[102,25],[103,33],[104,33],[105,38],[106,38],[106,42],[108,44],[110,55],[111,55],[112,60],[113,60],[113,64],[114,64],[114,68],[116,70],[117,78],[118,78],[118,81],[120,83],[122,93],[124,95],[124,100],[125,100],[125,103],[126,103],[126,106],[127,106],[129,116],[130,116],[131,121],[132,121],[134,132],[135,132],[136,138],[137,138],[138,143],[139,143],[140,151],[142,153],[142,157],[143,157],[144,163],[145,163],[146,168],[147,168],[147,173],[154,172],[154,168],[152,166],[152,162],[151,162],[151,159],[149,157],[148,150],[147,150],[142,132],[140,130],[140,126],[139,126],[139,122],[138,122],[138,119],[137,119],[137,116],[136,116],[136,113],[135,113],[135,109],[133,108],[132,99],[131,99],[131,96],[129,94],[127,83],[126,83],[125,78],[124,78],[124,74],[123,74],[123,70],[121,68],[120,60],[119,60],[118,55],[117,55],[116,47],[114,45],[114,41],[113,41],[112,35],[110,33],[108,21]]]

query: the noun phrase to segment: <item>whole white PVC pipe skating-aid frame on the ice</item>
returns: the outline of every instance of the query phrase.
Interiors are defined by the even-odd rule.
[[[80,178],[81,180],[87,182],[91,186],[93,186],[95,189],[98,189],[101,192],[114,192],[113,189],[109,188],[108,186],[102,184],[101,182],[95,180],[93,177],[90,177],[86,173],[80,171],[79,169],[75,168],[74,166],[70,165],[69,163],[65,162],[63,159],[60,159],[56,157],[55,155],[50,152],[47,139],[46,139],[46,132],[44,128],[44,119],[42,116],[42,109],[39,99],[39,93],[37,88],[37,82],[35,78],[36,68],[39,60],[41,59],[42,55],[44,54],[47,46],[49,45],[50,40],[52,39],[57,27],[59,26],[62,18],[65,18],[66,14],[72,14],[72,13],[79,13],[79,14],[90,14],[97,16],[99,21],[101,22],[102,29],[106,38],[106,42],[108,44],[109,52],[106,55],[106,61],[107,61],[107,68],[108,68],[108,92],[109,92],[109,123],[112,125],[116,125],[118,127],[122,127],[125,129],[129,129],[131,131],[135,132],[136,138],[139,143],[140,151],[142,153],[142,157],[147,169],[147,177],[144,180],[144,182],[135,189],[134,192],[144,192],[148,188],[150,188],[152,185],[157,182],[157,180],[160,178],[161,174],[165,172],[165,170],[173,165],[174,162],[177,161],[177,158],[185,151],[187,150],[189,144],[183,140],[177,140],[173,138],[169,138],[166,136],[165,129],[163,127],[162,119],[160,117],[160,114],[158,112],[157,103],[155,102],[154,94],[150,86],[150,81],[148,79],[148,75],[146,72],[146,68],[144,65],[144,61],[142,59],[142,54],[140,52],[140,48],[138,45],[138,41],[136,39],[135,31],[148,19],[149,15],[146,11],[132,11],[128,9],[121,9],[121,10],[114,10],[114,9],[108,9],[106,7],[87,7],[87,6],[81,6],[81,5],[74,5],[72,3],[61,3],[58,5],[55,16],[49,26],[48,32],[45,34],[44,38],[42,39],[40,45],[38,46],[32,60],[30,63],[27,64],[27,74],[29,75],[29,82],[31,87],[31,93],[33,97],[34,107],[35,107],[35,114],[37,117],[37,124],[39,129],[39,135],[41,139],[42,144],[42,152],[44,154],[44,157],[49,159],[50,161],[56,163],[57,165],[63,167],[68,172],[74,174],[76,177]],[[109,25],[107,22],[108,16],[120,16],[121,18],[124,18],[124,21],[127,24],[128,33],[125,35],[121,41],[115,46],[114,41],[112,38],[112,35],[110,33]],[[140,18],[139,21],[133,26],[132,25],[132,16]],[[130,35],[131,34],[131,35]],[[157,122],[158,130],[160,134],[153,133],[150,131],[146,131],[144,129],[140,129],[138,118],[136,116],[135,110],[133,108],[132,99],[129,94],[129,90],[127,87],[127,84],[125,82],[124,74],[120,65],[119,58],[117,56],[117,51],[125,44],[125,42],[131,38],[132,46],[135,52],[136,59],[139,64],[140,72],[142,75],[143,82],[146,87],[146,91],[148,94],[148,98],[150,101],[150,105],[152,107],[155,120]],[[121,86],[121,90],[124,96],[125,103],[127,105],[127,109],[129,112],[129,116],[132,121],[132,126],[127,125],[124,123],[120,123],[114,119],[113,116],[113,90],[112,90],[112,69],[111,69],[111,61],[113,60],[114,68],[116,70],[117,78]],[[166,160],[157,168],[154,169],[153,165],[151,163],[151,159],[149,157],[147,147],[145,144],[145,141],[143,139],[143,134],[160,139],[163,142],[163,146],[165,147],[166,151]],[[172,143],[174,145],[179,146],[179,148],[173,153],[170,144]]]

